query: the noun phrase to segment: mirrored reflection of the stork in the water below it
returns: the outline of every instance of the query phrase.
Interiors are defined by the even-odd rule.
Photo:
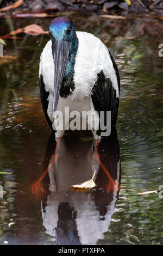
[[[64,136],[49,138],[42,180],[42,218],[57,245],[96,245],[108,231],[120,190],[121,164],[117,138],[101,142]],[[89,191],[71,185],[94,178]]]

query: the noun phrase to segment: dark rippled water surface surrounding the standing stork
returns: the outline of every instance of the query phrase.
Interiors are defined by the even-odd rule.
[[[48,30],[50,21],[4,19],[1,34],[31,23]],[[7,40],[4,54],[15,59],[0,59],[0,244],[162,245],[163,201],[158,193],[137,194],[163,185],[161,31],[150,34],[140,20],[74,15],[73,21],[77,30],[101,38],[116,59],[118,141],[96,147],[90,135],[67,133],[56,146],[38,79],[49,37]],[[95,190],[71,190],[94,170]]]

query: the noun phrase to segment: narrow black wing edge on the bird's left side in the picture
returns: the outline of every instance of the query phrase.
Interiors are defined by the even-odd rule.
[[[43,112],[45,114],[48,125],[51,127],[51,130],[54,131],[53,127],[52,127],[52,121],[51,121],[51,119],[49,119],[48,114],[47,114],[47,108],[48,108],[47,98],[49,96],[49,93],[46,92],[46,90],[45,90],[45,84],[43,83],[42,75],[40,75],[40,78],[39,78],[39,86],[40,86],[40,97],[41,97],[41,104],[42,104]]]

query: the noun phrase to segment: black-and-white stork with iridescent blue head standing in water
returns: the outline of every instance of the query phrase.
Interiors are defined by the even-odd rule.
[[[111,134],[115,134],[120,76],[110,51],[96,36],[76,32],[69,17],[55,18],[49,35],[51,40],[41,53],[39,77],[43,112],[55,137],[64,135],[67,124],[57,130],[54,113],[60,111],[65,118],[65,107],[70,112],[96,112],[97,122],[101,111],[111,111]],[[100,128],[92,132],[95,139],[101,137]]]

